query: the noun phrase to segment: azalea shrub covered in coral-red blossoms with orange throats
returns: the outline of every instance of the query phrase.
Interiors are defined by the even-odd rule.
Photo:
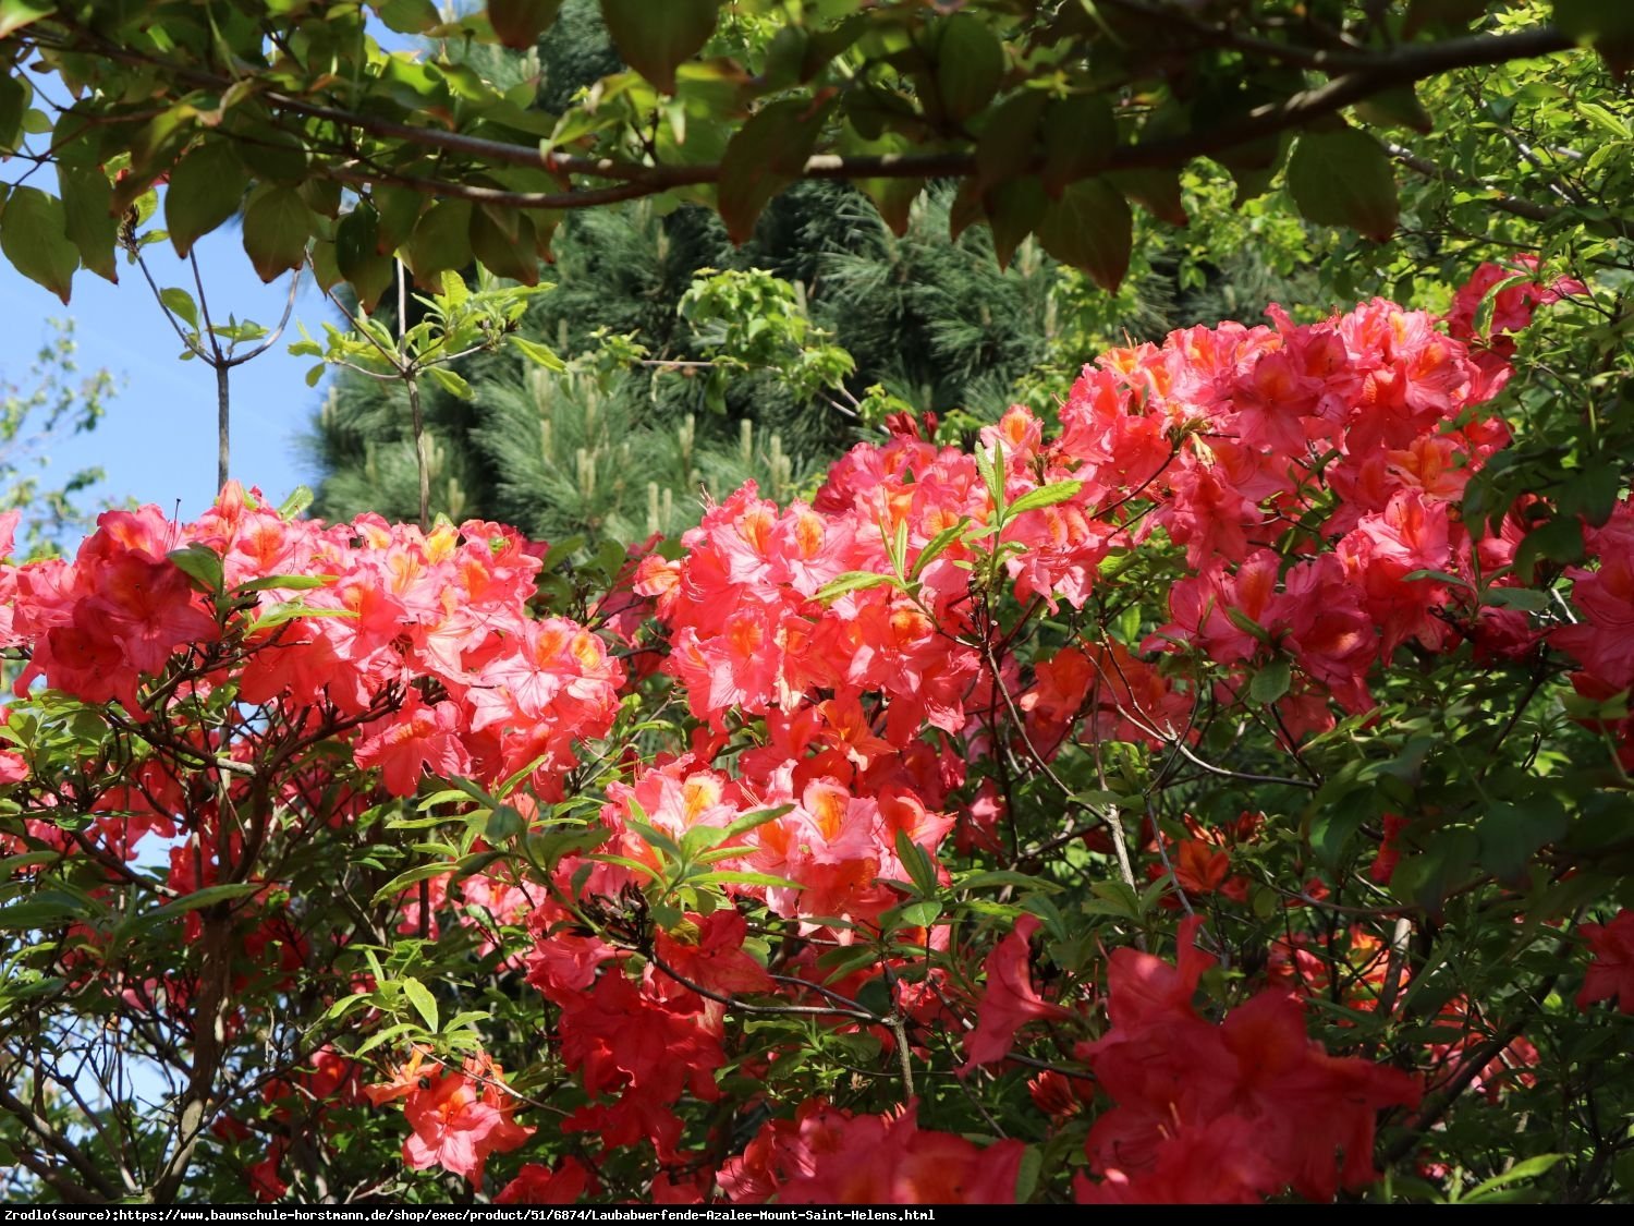
[[[593,556],[229,485],[7,566],[8,1190],[1634,1192],[1634,507],[1461,512],[1592,293],[1176,332]]]

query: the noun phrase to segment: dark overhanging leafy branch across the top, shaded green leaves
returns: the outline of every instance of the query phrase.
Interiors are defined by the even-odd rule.
[[[1116,286],[1131,201],[1183,221],[1176,175],[1193,159],[1250,195],[1286,162],[1309,219],[1389,237],[1395,178],[1376,131],[1423,121],[1415,83],[1580,41],[1613,62],[1634,46],[1614,0],[1480,33],[1469,21],[1489,5],[1461,0],[603,0],[631,67],[559,110],[448,54],[533,47],[557,36],[559,7],[446,20],[430,0],[7,0],[0,145],[54,163],[59,185],[10,188],[0,248],[67,298],[80,266],[114,275],[119,219],[168,180],[178,252],[242,213],[265,278],[317,239],[320,275],[374,302],[397,252],[422,280],[475,260],[531,281],[529,252],[565,209],[699,201],[743,240],[789,183],[843,178],[900,229],[926,180],[956,178],[954,227],[987,221],[1000,260],[1036,234]],[[382,28],[443,52],[384,51]]]

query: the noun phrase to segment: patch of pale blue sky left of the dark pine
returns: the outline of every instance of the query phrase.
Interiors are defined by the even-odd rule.
[[[266,327],[278,322],[288,281],[261,284],[235,227],[206,237],[196,250],[216,320],[232,312]],[[150,245],[145,258],[162,288],[186,286],[191,293],[191,271],[168,244]],[[275,502],[317,476],[299,456],[297,438],[322,402],[322,387],[306,386],[312,363],[289,356],[288,342],[299,335],[296,319],[320,332],[319,320],[330,314],[317,289],[304,286],[286,337],[232,373],[232,476],[260,485]],[[216,485],[214,373],[196,360],[180,360],[181,342],[141,268],[121,255],[116,286],[80,270],[72,301],[62,306],[0,260],[0,378],[25,379],[52,317],[74,319],[82,373],[106,368],[121,384],[101,425],[54,451],[52,471],[101,464],[108,479],[93,492],[96,500],[134,497],[168,513],[180,499],[185,518],[203,510]]]

